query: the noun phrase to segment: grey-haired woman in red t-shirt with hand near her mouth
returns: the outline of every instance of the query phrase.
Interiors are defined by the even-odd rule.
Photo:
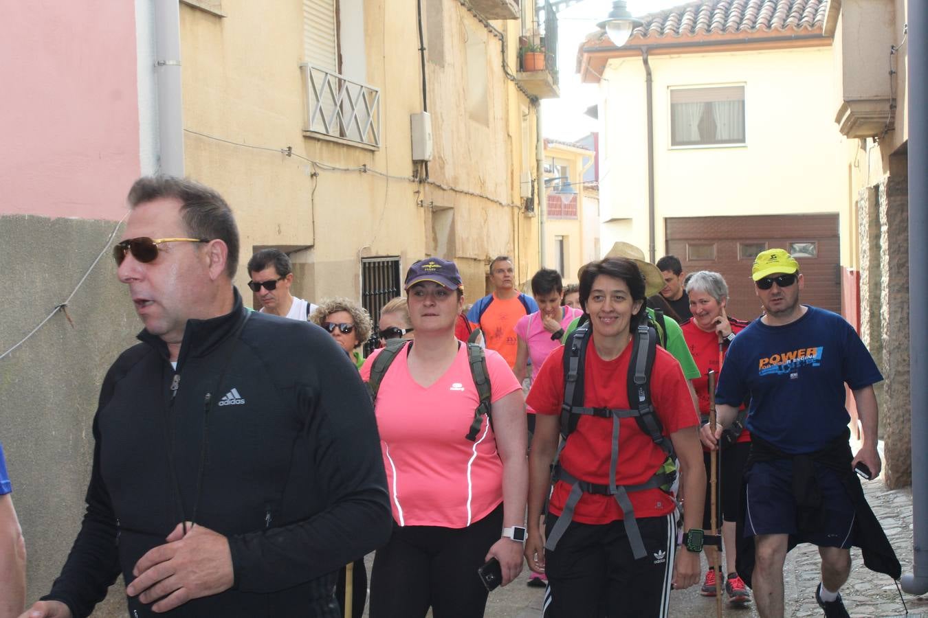
[[[702,374],[693,380],[693,388],[699,397],[699,411],[703,423],[708,422],[709,415],[709,370],[715,375],[722,371],[722,361],[728,344],[735,338],[735,334],[748,325],[748,322],[729,318],[725,313],[728,302],[728,285],[722,275],[713,271],[699,271],[690,275],[687,283],[687,295],[690,296],[690,312],[692,318],[683,322],[680,329],[683,338],[690,347],[690,354],[696,361],[696,366]],[[719,494],[717,512],[722,522],[722,542],[725,548],[726,574],[725,590],[728,601],[734,604],[744,604],[751,600],[741,577],[735,571],[735,519],[738,516],[738,498],[741,489],[741,473],[751,450],[751,435],[746,429],[733,436],[735,442],[725,448],[720,458]],[[703,449],[704,450],[704,449]],[[706,478],[710,471],[710,455],[704,450]],[[712,487],[706,483],[704,519],[702,525],[709,526]],[[710,565],[718,564],[717,549],[705,547],[705,557]],[[709,567],[702,582],[700,594],[705,597],[715,597],[715,568]]]

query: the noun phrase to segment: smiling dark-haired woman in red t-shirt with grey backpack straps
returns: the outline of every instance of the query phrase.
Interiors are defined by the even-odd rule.
[[[660,273],[657,275],[659,280]],[[647,319],[645,280],[636,262],[609,258],[587,264],[580,272],[580,304],[592,329],[584,357],[583,406],[627,410],[627,372],[635,346],[631,333],[638,322]],[[620,507],[616,497],[608,493],[585,490],[571,513],[572,498],[568,496],[571,487],[579,485],[571,485],[561,475],[551,493],[542,536],[539,518],[550,490],[549,466],[561,434],[565,349],[551,352],[528,396],[536,419],[529,453],[525,557],[529,568],[548,575],[545,616],[666,616],[671,586],[696,584],[700,565],[698,551],[677,551],[676,502],[661,487],[628,491],[631,509]],[[650,385],[656,416],[677,452],[686,495],[693,497],[688,499],[695,510],[684,513],[684,529],[689,533],[699,528],[705,493],[699,420],[677,359],[662,347],[655,350]],[[615,486],[647,483],[663,469],[667,460],[664,449],[641,431],[634,418],[620,419],[618,429],[615,467],[611,470],[612,417],[579,416],[561,450],[560,468],[596,486],[610,484],[611,477]],[[638,525],[637,536],[626,534],[624,520],[631,511]],[[552,535],[561,515],[570,523],[562,536]],[[563,525],[566,520],[561,522]],[[553,549],[544,549],[545,538]],[[690,536],[698,538],[699,533]],[[636,540],[643,545],[638,559],[633,546]],[[693,546],[697,545],[693,540]]]

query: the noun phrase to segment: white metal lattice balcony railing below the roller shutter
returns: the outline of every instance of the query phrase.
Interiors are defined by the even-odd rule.
[[[380,147],[380,90],[303,63],[304,132]]]

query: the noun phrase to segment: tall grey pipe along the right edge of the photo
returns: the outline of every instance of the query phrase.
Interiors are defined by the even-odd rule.
[[[928,5],[909,3],[909,109],[928,106]],[[924,115],[909,113],[909,384],[912,415],[912,572],[902,576],[902,589],[913,595],[928,592],[928,125]]]

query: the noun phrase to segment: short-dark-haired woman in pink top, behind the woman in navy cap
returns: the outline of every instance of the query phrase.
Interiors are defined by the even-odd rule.
[[[516,335],[519,338],[516,351],[516,364],[512,371],[516,380],[522,384],[526,374],[526,360],[532,359],[532,378],[535,378],[541,363],[545,362],[551,350],[561,345],[564,330],[574,322],[574,318],[583,315],[583,309],[561,306],[561,273],[551,269],[541,269],[532,277],[532,296],[538,303],[538,310],[522,316],[516,322]]]

